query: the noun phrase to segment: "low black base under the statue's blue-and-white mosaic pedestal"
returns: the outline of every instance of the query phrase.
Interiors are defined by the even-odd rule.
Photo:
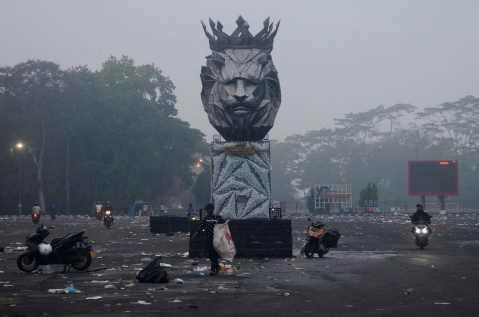
[[[200,221],[190,222],[190,236]],[[292,238],[289,219],[230,220],[230,231],[238,257],[291,257]],[[206,257],[206,238],[190,240],[190,257]]]

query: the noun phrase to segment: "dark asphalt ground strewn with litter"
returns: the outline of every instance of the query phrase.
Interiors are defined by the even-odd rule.
[[[290,218],[292,258],[238,258],[237,270],[210,277],[199,271],[209,261],[189,263],[187,233],[152,235],[141,217],[116,217],[110,230],[90,217],[42,219],[56,227],[47,241],[86,230],[97,252],[90,269],[106,269],[22,273],[16,249],[35,226],[26,216],[0,217],[0,316],[478,316],[478,215],[435,216],[424,250],[407,215],[322,216],[342,237],[314,259],[299,255],[307,216]],[[136,283],[157,255],[183,283]],[[71,285],[82,293],[48,292]]]

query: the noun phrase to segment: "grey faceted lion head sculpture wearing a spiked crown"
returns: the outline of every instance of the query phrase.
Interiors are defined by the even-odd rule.
[[[210,123],[226,141],[260,141],[273,127],[281,104],[278,73],[271,60],[274,32],[269,19],[253,36],[241,16],[232,35],[210,20],[212,54],[201,69],[201,98]],[[278,23],[279,24],[279,23]],[[269,27],[268,27],[269,25]]]

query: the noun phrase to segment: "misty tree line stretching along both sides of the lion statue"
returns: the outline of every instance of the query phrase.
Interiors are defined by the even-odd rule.
[[[96,200],[117,208],[139,198],[209,202],[209,166],[199,175],[191,168],[209,145],[177,117],[174,89],[154,64],[126,56],[98,71],[40,60],[0,67],[0,213],[17,212],[19,183],[27,213],[34,202],[55,202],[60,213],[88,213]],[[319,183],[351,183],[358,200],[374,182],[380,199],[406,200],[414,159],[459,160],[459,199],[478,200],[478,98],[423,110],[378,106],[333,120],[334,129],[271,142],[272,199],[289,210]]]

